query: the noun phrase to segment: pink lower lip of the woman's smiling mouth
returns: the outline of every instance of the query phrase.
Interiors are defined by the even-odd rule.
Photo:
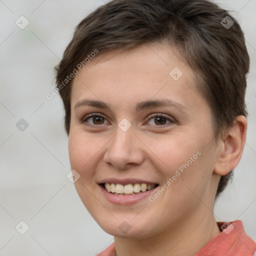
[[[113,194],[108,192],[107,190],[105,190],[103,188],[102,185],[99,185],[100,190],[102,191],[104,197],[112,202],[112,203],[116,203],[116,204],[132,204],[135,202],[138,202],[146,197],[149,197],[149,195],[154,192],[154,190],[158,187],[154,187],[150,190],[147,190],[145,192],[139,192],[139,193],[135,193],[135,194],[131,194],[131,195],[119,195],[119,194]]]

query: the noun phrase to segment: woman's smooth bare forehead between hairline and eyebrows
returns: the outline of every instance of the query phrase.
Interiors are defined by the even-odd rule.
[[[163,97],[187,108],[206,104],[193,71],[169,45],[154,43],[98,54],[75,75],[71,108],[84,97],[113,107],[135,107],[139,101]]]

